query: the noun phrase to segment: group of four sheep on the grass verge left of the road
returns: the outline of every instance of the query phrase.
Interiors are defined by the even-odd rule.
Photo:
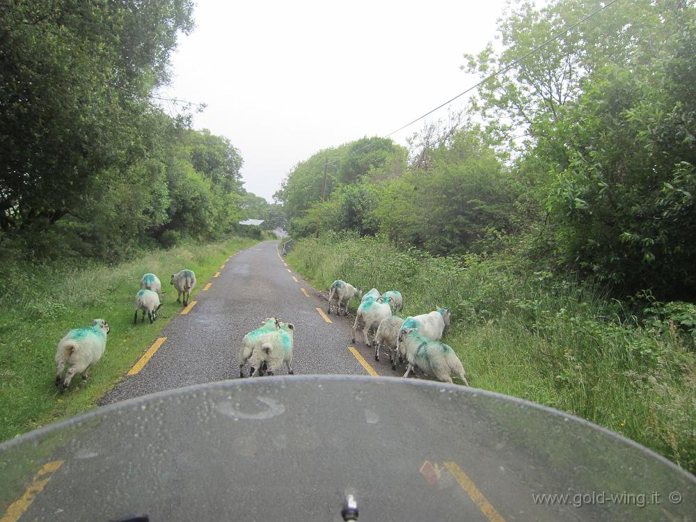
[[[181,303],[183,296],[184,306],[187,306],[191,290],[196,286],[196,274],[193,274],[192,270],[184,269],[172,274],[170,283],[178,292],[177,303]],[[140,280],[140,288],[141,290],[135,295],[134,323],[138,323],[138,311],[143,310],[142,321],[145,321],[145,312],[147,312],[152,324],[157,317],[157,310],[162,306],[162,284],[155,274],[145,274]],[[104,355],[107,333],[109,333],[109,324],[104,319],[92,319],[91,326],[70,330],[61,342],[58,342],[56,386],[60,386],[61,381],[63,382],[61,393],[68,389],[76,373],[81,373],[83,380],[89,377],[89,367]],[[63,378],[66,366],[68,371]]]

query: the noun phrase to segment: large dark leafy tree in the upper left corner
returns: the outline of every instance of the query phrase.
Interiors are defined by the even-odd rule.
[[[80,216],[100,173],[132,168],[152,131],[189,0],[37,2],[0,10],[0,226]]]

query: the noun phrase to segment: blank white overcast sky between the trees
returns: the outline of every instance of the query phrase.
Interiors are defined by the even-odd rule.
[[[386,136],[475,84],[463,54],[493,40],[505,3],[198,0],[164,93],[207,104],[193,127],[226,136],[244,187],[272,201],[299,161]]]

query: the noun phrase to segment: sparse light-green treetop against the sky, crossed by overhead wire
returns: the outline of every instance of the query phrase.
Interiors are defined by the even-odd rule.
[[[537,10],[522,3],[498,26],[503,51],[489,43],[477,56],[465,55],[461,68],[483,79],[473,102],[500,143],[515,146],[514,136],[539,137],[539,120],[557,120],[562,107],[583,91],[583,79],[607,63],[626,63],[644,42],[664,42],[670,28],[661,17],[670,2],[617,2],[564,33],[600,6],[596,0],[553,0]],[[674,4],[674,2],[672,2]],[[532,56],[516,62],[558,35]]]

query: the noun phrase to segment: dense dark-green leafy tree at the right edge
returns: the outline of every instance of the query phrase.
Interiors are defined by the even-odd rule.
[[[588,78],[587,90],[549,125],[539,153],[556,164],[548,200],[562,260],[611,283],[651,289],[658,299],[696,291],[696,16],[663,22],[675,34],[655,55],[645,45],[624,65]]]

